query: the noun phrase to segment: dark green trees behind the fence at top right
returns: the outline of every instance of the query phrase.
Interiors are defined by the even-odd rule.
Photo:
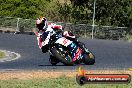
[[[73,18],[83,14],[81,19],[92,20],[94,0],[71,0],[71,3],[76,9]],[[95,22],[99,25],[129,27],[132,20],[131,4],[131,0],[96,0]]]

